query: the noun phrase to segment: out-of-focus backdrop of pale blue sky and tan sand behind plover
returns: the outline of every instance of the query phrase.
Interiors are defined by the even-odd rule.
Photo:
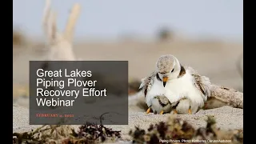
[[[162,54],[173,54],[213,83],[243,90],[237,67],[240,60],[242,68],[242,1],[148,2],[144,6],[143,1],[56,0],[52,8],[58,14],[58,31],[64,30],[74,2],[82,6],[74,31],[77,58],[129,61],[130,79],[140,80],[154,70]],[[29,61],[44,60],[44,5],[45,1],[14,0],[14,83],[26,85]]]

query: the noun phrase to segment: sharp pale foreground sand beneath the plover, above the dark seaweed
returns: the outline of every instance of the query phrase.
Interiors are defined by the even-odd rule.
[[[130,102],[132,103],[132,102]],[[132,140],[129,131],[134,130],[135,126],[139,126],[142,129],[147,129],[150,124],[156,124],[158,122],[165,122],[170,114],[146,114],[140,108],[134,108],[129,110],[129,125],[116,125],[106,126],[113,128],[113,130],[121,130],[122,141]],[[137,109],[137,110],[136,110]],[[29,110],[22,106],[13,106],[14,117],[14,132],[30,131],[37,128],[37,125],[29,125]],[[187,122],[190,122],[194,128],[206,126],[206,116],[214,116],[216,118],[217,126],[222,130],[240,130],[243,129],[243,110],[238,108],[232,108],[230,106],[222,106],[220,108],[211,110],[200,110],[197,114],[178,114],[178,118],[182,118]],[[78,126],[74,126],[77,128]]]

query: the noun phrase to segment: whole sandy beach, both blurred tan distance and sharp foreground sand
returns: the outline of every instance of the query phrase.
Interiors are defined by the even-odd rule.
[[[16,47],[14,49],[14,106],[13,131],[30,131],[38,126],[29,125],[28,80],[29,61],[43,60],[43,52],[38,54],[37,45]],[[182,63],[192,66],[199,74],[206,75],[214,84],[243,90],[242,78],[236,62],[242,54],[242,44],[230,42],[192,42],[177,40],[174,42],[84,42],[76,43],[75,54],[82,60],[127,60],[129,78],[139,80],[152,70],[159,56],[174,54]],[[42,48],[42,46],[41,46]],[[150,124],[165,121],[170,114],[146,114],[136,105],[136,94],[130,96],[129,125],[109,126],[122,130],[122,140],[130,141],[129,130],[134,126],[147,128]],[[243,110],[223,106],[211,110],[200,110],[197,114],[178,115],[195,128],[206,126],[206,115],[214,115],[217,126],[225,130],[243,129]]]

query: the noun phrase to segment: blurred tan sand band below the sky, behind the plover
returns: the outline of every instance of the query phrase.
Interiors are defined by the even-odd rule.
[[[27,84],[29,61],[43,60],[42,43],[14,46],[14,83]],[[129,78],[140,80],[154,70],[155,62],[162,54],[174,54],[184,65],[192,66],[211,82],[243,90],[242,77],[237,62],[241,62],[242,43],[221,40],[136,42],[77,42],[74,52],[81,60],[129,61]]]

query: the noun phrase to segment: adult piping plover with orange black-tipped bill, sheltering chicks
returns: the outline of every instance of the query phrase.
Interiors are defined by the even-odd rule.
[[[188,114],[194,114],[204,106],[204,102],[210,97],[209,78],[199,75],[190,67],[182,66],[170,54],[161,56],[156,67],[150,77],[142,79],[140,86],[149,107],[157,95],[165,95],[170,103],[178,102],[176,109],[182,113],[187,106]],[[187,100],[182,100],[184,98]]]

